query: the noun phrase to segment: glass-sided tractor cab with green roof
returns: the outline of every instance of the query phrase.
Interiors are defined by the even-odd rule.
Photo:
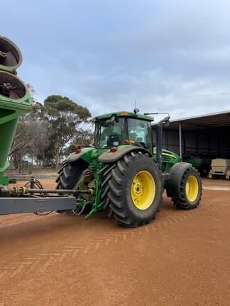
[[[135,112],[100,115],[95,118],[94,147],[109,149],[119,145],[136,145],[153,152],[151,121],[152,117]]]

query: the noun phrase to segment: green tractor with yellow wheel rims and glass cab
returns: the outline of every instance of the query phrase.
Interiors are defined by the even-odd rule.
[[[155,218],[163,191],[177,208],[199,205],[202,182],[191,164],[162,149],[162,125],[158,123],[155,146],[149,115],[115,112],[94,118],[94,146],[77,149],[63,162],[57,189],[87,190],[77,198],[77,210],[59,211],[89,219],[99,210],[127,227],[145,225]]]

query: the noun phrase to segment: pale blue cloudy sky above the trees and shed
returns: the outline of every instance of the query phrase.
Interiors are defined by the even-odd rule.
[[[0,0],[18,75],[92,115],[230,109],[230,0]]]

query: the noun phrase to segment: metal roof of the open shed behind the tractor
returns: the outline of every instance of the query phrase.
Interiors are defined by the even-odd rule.
[[[168,128],[164,127],[164,129],[176,130],[180,123],[182,130],[230,127],[230,111],[170,120],[170,126]]]

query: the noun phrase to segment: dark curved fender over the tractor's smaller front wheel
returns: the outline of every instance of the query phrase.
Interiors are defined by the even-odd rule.
[[[178,162],[170,169],[170,179],[165,183],[165,189],[168,197],[180,197],[180,183],[185,171],[192,167],[192,164]]]

